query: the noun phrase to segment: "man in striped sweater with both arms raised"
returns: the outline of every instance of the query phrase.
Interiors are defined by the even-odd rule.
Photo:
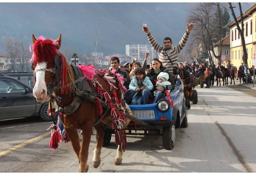
[[[173,67],[177,64],[178,55],[182,48],[186,45],[188,35],[192,28],[194,28],[193,23],[189,25],[187,24],[186,32],[184,33],[178,45],[176,45],[175,47],[172,47],[172,39],[170,37],[164,38],[164,47],[160,46],[150,33],[149,29],[147,27],[142,28],[142,30],[147,33],[148,41],[155,49],[155,51],[158,53],[159,61],[163,63],[164,67],[166,67],[167,70],[170,71],[170,73],[172,73],[172,75],[174,75]]]

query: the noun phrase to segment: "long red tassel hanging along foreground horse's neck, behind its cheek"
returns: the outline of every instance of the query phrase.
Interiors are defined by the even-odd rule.
[[[66,59],[63,55],[60,55],[60,94],[68,94],[68,69],[66,67]]]

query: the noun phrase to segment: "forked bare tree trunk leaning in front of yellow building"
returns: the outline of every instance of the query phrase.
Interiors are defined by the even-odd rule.
[[[232,13],[232,16],[234,18],[234,21],[236,22],[236,28],[237,28],[240,36],[241,36],[241,43],[242,43],[242,47],[243,47],[243,56],[242,56],[243,62],[244,62],[244,64],[248,64],[248,62],[247,62],[248,55],[247,55],[246,45],[245,45],[245,40],[244,40],[244,16],[243,16],[243,13],[242,13],[241,3],[238,2],[239,11],[240,11],[240,17],[241,17],[241,28],[240,28],[240,26],[238,24],[236,15],[235,15],[233,7],[232,7],[232,4],[230,2],[228,2],[228,5],[229,5],[229,8],[231,10],[231,13]]]

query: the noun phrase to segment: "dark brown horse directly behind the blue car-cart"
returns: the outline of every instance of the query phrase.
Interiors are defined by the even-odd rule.
[[[190,97],[192,96],[192,90],[194,86],[194,76],[191,75],[184,67],[179,68],[178,74],[184,85],[184,97],[186,99],[187,109],[190,109]]]

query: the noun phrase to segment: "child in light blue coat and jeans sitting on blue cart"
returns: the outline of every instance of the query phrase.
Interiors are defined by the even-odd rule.
[[[149,77],[146,76],[145,69],[140,68],[136,71],[136,76],[132,77],[129,88],[134,91],[132,104],[148,104],[153,84]]]

